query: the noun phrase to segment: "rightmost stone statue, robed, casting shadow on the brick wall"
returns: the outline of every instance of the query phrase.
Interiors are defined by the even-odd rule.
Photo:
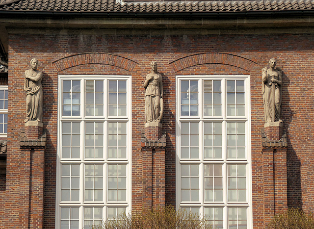
[[[272,58],[269,60],[269,69],[262,69],[265,123],[283,122],[280,119],[283,74],[276,64],[276,59]]]

